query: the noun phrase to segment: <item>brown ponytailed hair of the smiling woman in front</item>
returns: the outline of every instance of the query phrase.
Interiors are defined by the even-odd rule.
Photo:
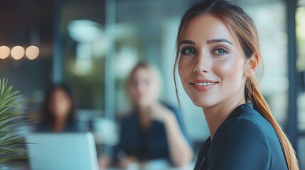
[[[181,19],[176,40],[176,59],[175,66],[173,68],[173,78],[175,82],[176,95],[179,106],[181,106],[181,103],[178,96],[178,88],[176,85],[176,69],[179,60],[178,45],[181,42],[181,35],[188,25],[188,22],[191,21],[192,18],[198,15],[203,15],[205,13],[211,13],[214,16],[217,16],[228,26],[228,28],[230,28],[230,31],[232,31],[232,33],[234,33],[238,38],[245,57],[249,58],[253,54],[256,54],[259,60],[262,61],[262,56],[259,52],[259,38],[257,28],[250,16],[248,16],[247,13],[245,13],[245,11],[240,8],[240,6],[225,0],[202,1],[193,5],[188,9],[188,11],[186,11],[186,13],[183,15],[183,18]],[[279,142],[282,145],[288,168],[293,170],[299,169],[294,149],[291,146],[287,135],[285,135],[284,131],[273,117],[267,101],[265,101],[264,97],[259,91],[255,77],[248,77],[246,80],[245,101],[252,101],[254,108],[264,118],[266,118],[266,120],[274,128],[275,132],[277,132],[277,136],[279,137]]]

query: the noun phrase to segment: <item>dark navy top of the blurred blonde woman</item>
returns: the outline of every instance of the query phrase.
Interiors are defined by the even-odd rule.
[[[186,136],[178,110],[172,106],[166,105],[166,107],[176,115],[178,124]],[[137,111],[134,111],[134,113],[121,121],[120,126],[119,145],[116,148],[117,154],[123,151],[127,156],[137,157],[137,159],[142,161],[167,159],[171,162],[166,129],[163,123],[158,120],[151,120],[151,127],[145,131],[141,128]]]

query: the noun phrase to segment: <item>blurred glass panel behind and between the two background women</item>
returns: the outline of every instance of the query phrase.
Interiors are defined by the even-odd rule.
[[[105,95],[105,2],[60,1],[63,81],[80,109],[102,111]]]

